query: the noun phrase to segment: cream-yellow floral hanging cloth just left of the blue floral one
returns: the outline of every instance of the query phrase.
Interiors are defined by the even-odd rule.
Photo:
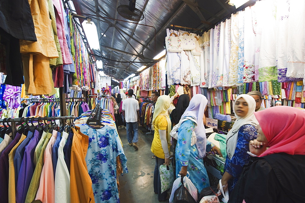
[[[229,86],[237,85],[239,27],[238,13],[231,15],[231,51],[229,63]]]

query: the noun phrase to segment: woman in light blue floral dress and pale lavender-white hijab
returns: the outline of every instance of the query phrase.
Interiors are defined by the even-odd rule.
[[[211,142],[206,140],[203,115],[206,110],[207,99],[202,94],[192,97],[187,109],[181,116],[183,121],[178,129],[176,145],[176,177],[178,174],[186,176],[190,173],[190,180],[198,192],[210,186],[209,177],[203,164],[206,151],[211,149],[221,155],[221,152]],[[192,132],[196,133],[196,142],[192,139]]]

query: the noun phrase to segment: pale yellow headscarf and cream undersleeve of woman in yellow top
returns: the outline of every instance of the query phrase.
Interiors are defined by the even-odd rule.
[[[170,143],[170,131],[171,131],[171,121],[170,116],[168,112],[168,108],[170,107],[171,99],[168,95],[162,95],[158,97],[158,100],[156,102],[156,106],[153,112],[152,117],[152,126],[155,124],[155,120],[157,116],[164,115],[166,116],[167,120],[167,142]]]

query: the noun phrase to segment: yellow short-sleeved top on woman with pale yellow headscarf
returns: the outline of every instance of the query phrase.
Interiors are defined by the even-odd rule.
[[[155,127],[155,134],[152,140],[152,147],[150,150],[152,151],[152,153],[154,153],[155,156],[164,159],[165,156],[161,145],[159,130],[167,130],[166,116],[163,115],[157,116],[155,119],[154,127]],[[166,131],[166,133],[168,133],[168,131]],[[168,142],[169,141],[168,137],[166,137],[166,139],[167,139],[168,151],[170,152],[170,144]]]

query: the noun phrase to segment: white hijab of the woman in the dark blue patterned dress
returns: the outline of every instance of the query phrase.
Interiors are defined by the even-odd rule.
[[[228,154],[229,159],[231,159],[235,153],[239,129],[243,125],[246,125],[246,124],[251,124],[251,125],[255,125],[255,126],[258,124],[258,122],[253,114],[255,112],[256,105],[255,105],[255,100],[253,99],[252,96],[247,95],[247,94],[239,95],[234,102],[234,106],[233,106],[234,112],[235,112],[235,103],[240,98],[243,98],[247,102],[248,112],[247,112],[246,116],[244,116],[244,117],[239,117],[235,113],[236,121],[233,124],[232,129],[228,132],[228,135],[227,135],[227,154]]]

